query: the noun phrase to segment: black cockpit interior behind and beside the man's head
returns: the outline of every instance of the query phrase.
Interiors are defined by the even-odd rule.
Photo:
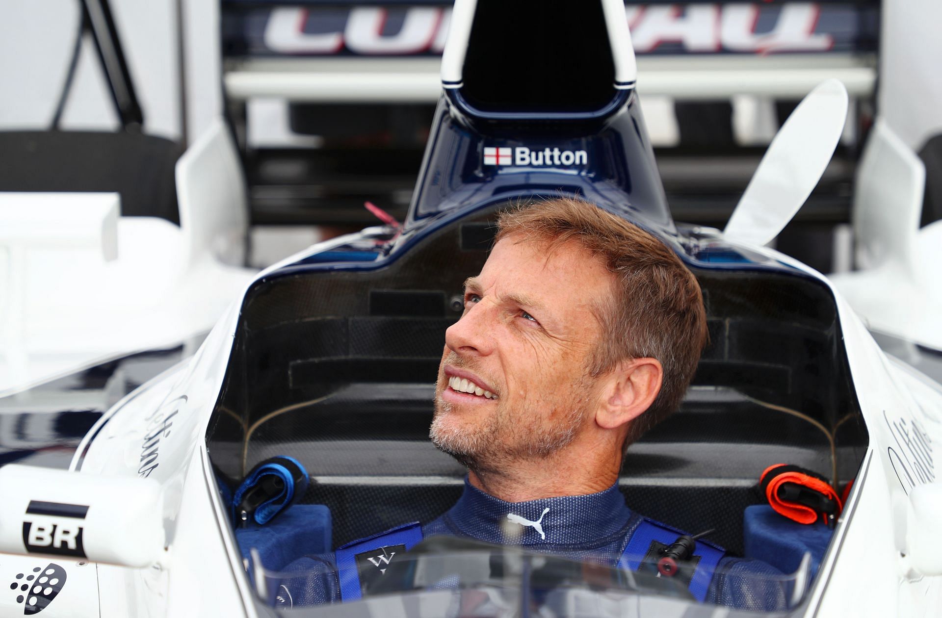
[[[497,209],[443,225],[382,266],[298,270],[252,287],[206,435],[223,494],[256,464],[295,458],[311,476],[300,504],[328,512],[327,551],[455,502],[464,469],[429,441],[434,381]],[[825,285],[686,261],[704,291],[707,350],[679,411],[628,448],[618,487],[632,510],[715,529],[710,540],[741,556],[763,470],[800,465],[840,490],[868,434]]]

